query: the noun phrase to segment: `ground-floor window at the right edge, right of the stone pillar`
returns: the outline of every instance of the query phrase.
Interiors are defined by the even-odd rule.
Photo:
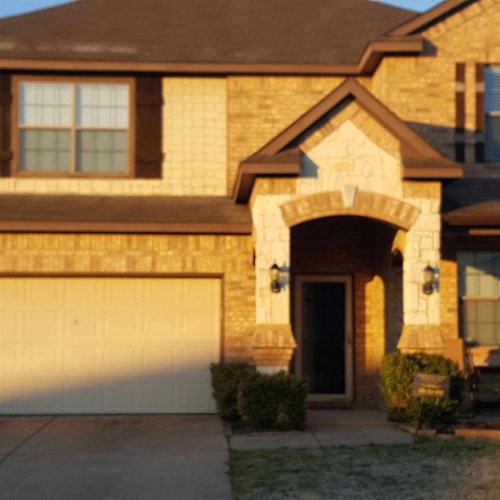
[[[457,263],[463,338],[500,345],[500,252],[458,252]]]

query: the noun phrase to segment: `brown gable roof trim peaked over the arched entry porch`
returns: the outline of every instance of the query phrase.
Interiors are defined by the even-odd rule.
[[[264,169],[259,170],[262,158],[267,163],[275,163],[277,158],[284,157],[294,141],[312,127],[320,118],[346,99],[354,99],[372,118],[378,121],[388,132],[400,141],[401,161],[404,179],[444,179],[462,176],[462,167],[442,156],[425,139],[418,135],[410,126],[396,116],[388,107],[380,102],[371,92],[358,81],[349,77],[336,87],[326,97],[288,125],[279,134],[262,146],[252,156],[240,163],[238,170],[235,196],[237,202],[248,200],[253,181],[258,175],[270,175]],[[279,175],[298,175],[298,158],[295,163],[287,162],[288,170],[281,168]],[[249,165],[252,165],[252,175],[248,176]],[[298,166],[297,166],[298,165]],[[245,176],[246,174],[246,176]]]

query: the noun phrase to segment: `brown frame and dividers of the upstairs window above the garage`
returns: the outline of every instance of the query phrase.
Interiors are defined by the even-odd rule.
[[[20,160],[20,131],[36,128],[19,125],[19,89],[21,83],[71,83],[72,84],[72,123],[69,128],[71,140],[70,171],[26,171],[19,168]],[[76,130],[89,129],[79,127],[75,123],[76,85],[78,84],[126,84],[128,86],[128,127],[126,128],[127,169],[124,172],[78,172],[76,165]],[[12,176],[16,177],[63,177],[63,178],[134,178],[135,177],[135,78],[127,76],[52,76],[52,75],[12,75],[12,108],[11,108],[11,148],[12,148]],[[50,128],[50,127],[47,127]],[[54,126],[53,128],[66,128]],[[98,129],[98,127],[90,127]],[[104,128],[105,129],[105,128]],[[109,128],[111,129],[111,128]],[[116,128],[117,129],[117,128]],[[123,130],[120,128],[120,130]]]

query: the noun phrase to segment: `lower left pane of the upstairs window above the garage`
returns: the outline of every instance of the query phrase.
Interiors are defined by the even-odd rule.
[[[21,130],[19,168],[29,172],[64,172],[70,169],[68,130]]]

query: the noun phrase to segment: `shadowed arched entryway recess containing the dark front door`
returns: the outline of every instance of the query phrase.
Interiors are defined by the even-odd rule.
[[[381,358],[402,327],[398,228],[357,215],[290,228],[290,316],[297,342],[291,369],[311,399],[379,404]]]

